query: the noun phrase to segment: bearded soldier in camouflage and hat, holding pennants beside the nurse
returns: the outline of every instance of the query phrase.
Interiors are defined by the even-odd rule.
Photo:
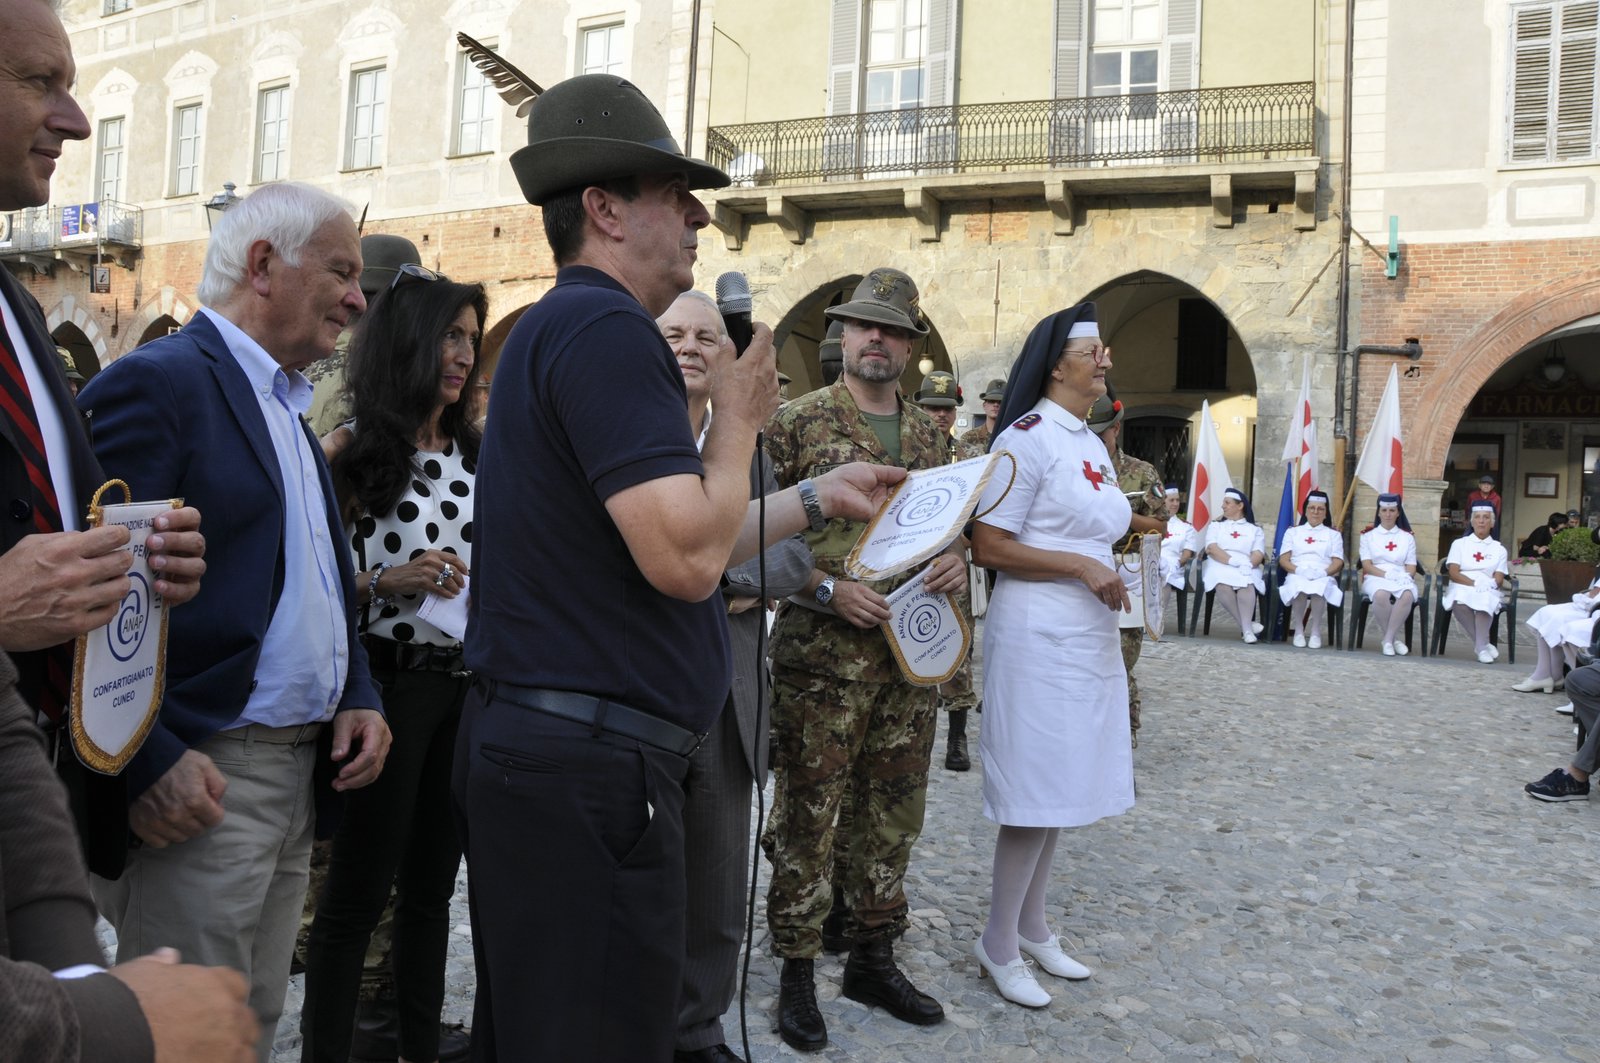
[[[928,335],[912,279],[874,269],[850,303],[827,314],[845,322],[843,376],[773,419],[766,451],[779,483],[850,461],[944,464],[938,429],[896,391],[912,344]],[[910,1023],[944,1018],[893,957],[893,940],[907,927],[902,885],[926,805],[934,695],[906,682],[878,629],[888,620],[883,596],[912,573],[870,584],[845,576],[845,557],[861,530],[832,520],[824,532],[805,533],[816,570],[779,613],[771,640],[778,752],[773,818],[762,837],[773,863],[766,917],[773,951],[784,961],[778,1031],[802,1052],[827,1044],[813,961],[832,903],[834,823],[846,789],[854,794],[843,882],[853,945],[843,994]],[[933,562],[926,583],[947,592],[965,578],[960,557],[947,552]]]

